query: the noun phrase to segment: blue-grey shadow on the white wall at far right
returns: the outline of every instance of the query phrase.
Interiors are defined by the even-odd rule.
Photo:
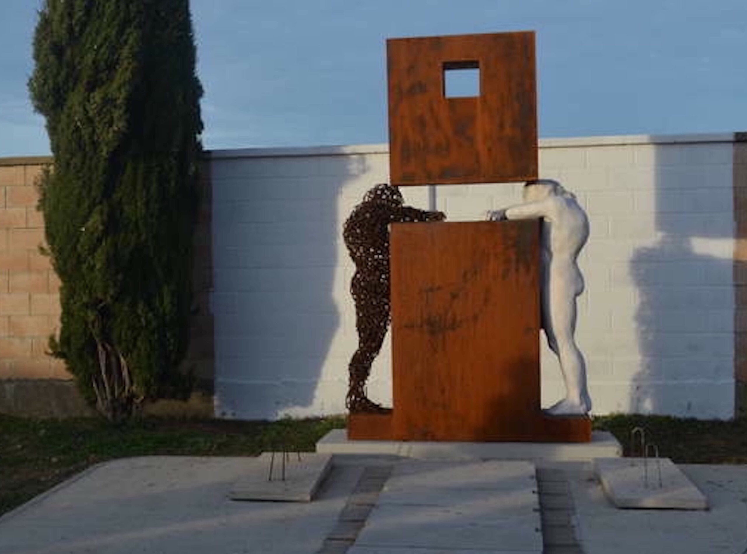
[[[629,262],[640,356],[630,412],[733,415],[733,192],[731,167],[708,157],[719,146],[656,146],[656,238]]]

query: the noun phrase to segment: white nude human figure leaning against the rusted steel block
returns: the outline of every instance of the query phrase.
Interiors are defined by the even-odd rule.
[[[576,345],[576,297],[583,292],[577,257],[589,237],[589,220],[576,197],[555,180],[538,179],[524,185],[524,203],[492,210],[492,221],[542,218],[540,303],[542,329],[558,356],[565,398],[551,406],[551,415],[583,415],[592,409],[586,386],[586,364]]]

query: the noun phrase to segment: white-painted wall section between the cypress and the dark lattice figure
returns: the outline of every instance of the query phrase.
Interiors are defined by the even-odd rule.
[[[344,406],[347,360],[332,351],[347,217],[338,203],[342,189],[367,171],[367,160],[338,154],[214,166],[219,417],[317,415],[330,411],[331,396]]]

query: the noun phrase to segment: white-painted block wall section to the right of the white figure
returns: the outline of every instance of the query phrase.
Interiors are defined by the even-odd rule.
[[[595,412],[731,418],[734,136],[550,141],[543,151],[542,171],[577,192],[592,228],[577,336]]]

